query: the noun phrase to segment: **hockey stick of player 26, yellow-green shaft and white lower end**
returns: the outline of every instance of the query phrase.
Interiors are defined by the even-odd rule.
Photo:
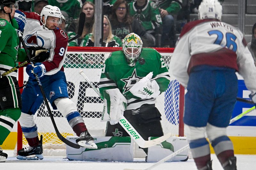
[[[252,108],[250,108],[249,110],[241,113],[240,115],[237,115],[236,117],[234,117],[233,119],[230,120],[229,124],[237,121],[238,119],[240,119],[241,117],[243,117],[244,115],[247,115],[248,113],[252,112],[253,110],[255,110],[255,106],[253,106]],[[174,156],[178,155],[180,152],[183,152],[184,150],[186,150],[189,147],[189,144],[187,144],[186,146],[184,146],[183,148],[180,148],[179,150],[173,152],[172,154],[164,157],[163,159],[159,160],[158,162],[156,162],[155,164],[153,164],[152,166],[149,166],[146,169],[140,169],[140,170],[150,170],[158,165],[160,165],[161,163],[173,158]],[[137,169],[124,169],[124,170],[137,170]]]

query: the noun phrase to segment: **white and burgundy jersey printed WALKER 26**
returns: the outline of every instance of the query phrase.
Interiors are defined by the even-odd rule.
[[[246,87],[256,92],[256,67],[243,33],[217,19],[186,24],[176,43],[170,74],[187,87],[189,72],[197,65],[228,67],[243,76]]]

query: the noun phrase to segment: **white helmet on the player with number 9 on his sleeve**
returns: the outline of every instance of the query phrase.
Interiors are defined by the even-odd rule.
[[[61,24],[61,21],[62,21],[61,12],[60,12],[60,8],[58,8],[57,6],[46,5],[42,9],[40,14],[41,21],[43,21],[43,16],[44,16],[45,23],[46,23],[47,17],[51,16],[51,17],[60,18],[59,24]],[[45,23],[44,23],[44,26],[45,26]]]

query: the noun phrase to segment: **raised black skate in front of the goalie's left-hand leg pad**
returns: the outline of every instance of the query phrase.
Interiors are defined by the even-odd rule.
[[[97,149],[98,146],[93,140],[94,138],[90,135],[88,130],[86,130],[80,134],[79,138],[76,139],[76,143],[85,148]]]

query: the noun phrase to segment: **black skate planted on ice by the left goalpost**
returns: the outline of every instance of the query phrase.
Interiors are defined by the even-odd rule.
[[[41,135],[39,144],[35,147],[28,146],[18,151],[17,159],[21,160],[38,160],[44,159],[43,146],[42,146],[43,135]]]

